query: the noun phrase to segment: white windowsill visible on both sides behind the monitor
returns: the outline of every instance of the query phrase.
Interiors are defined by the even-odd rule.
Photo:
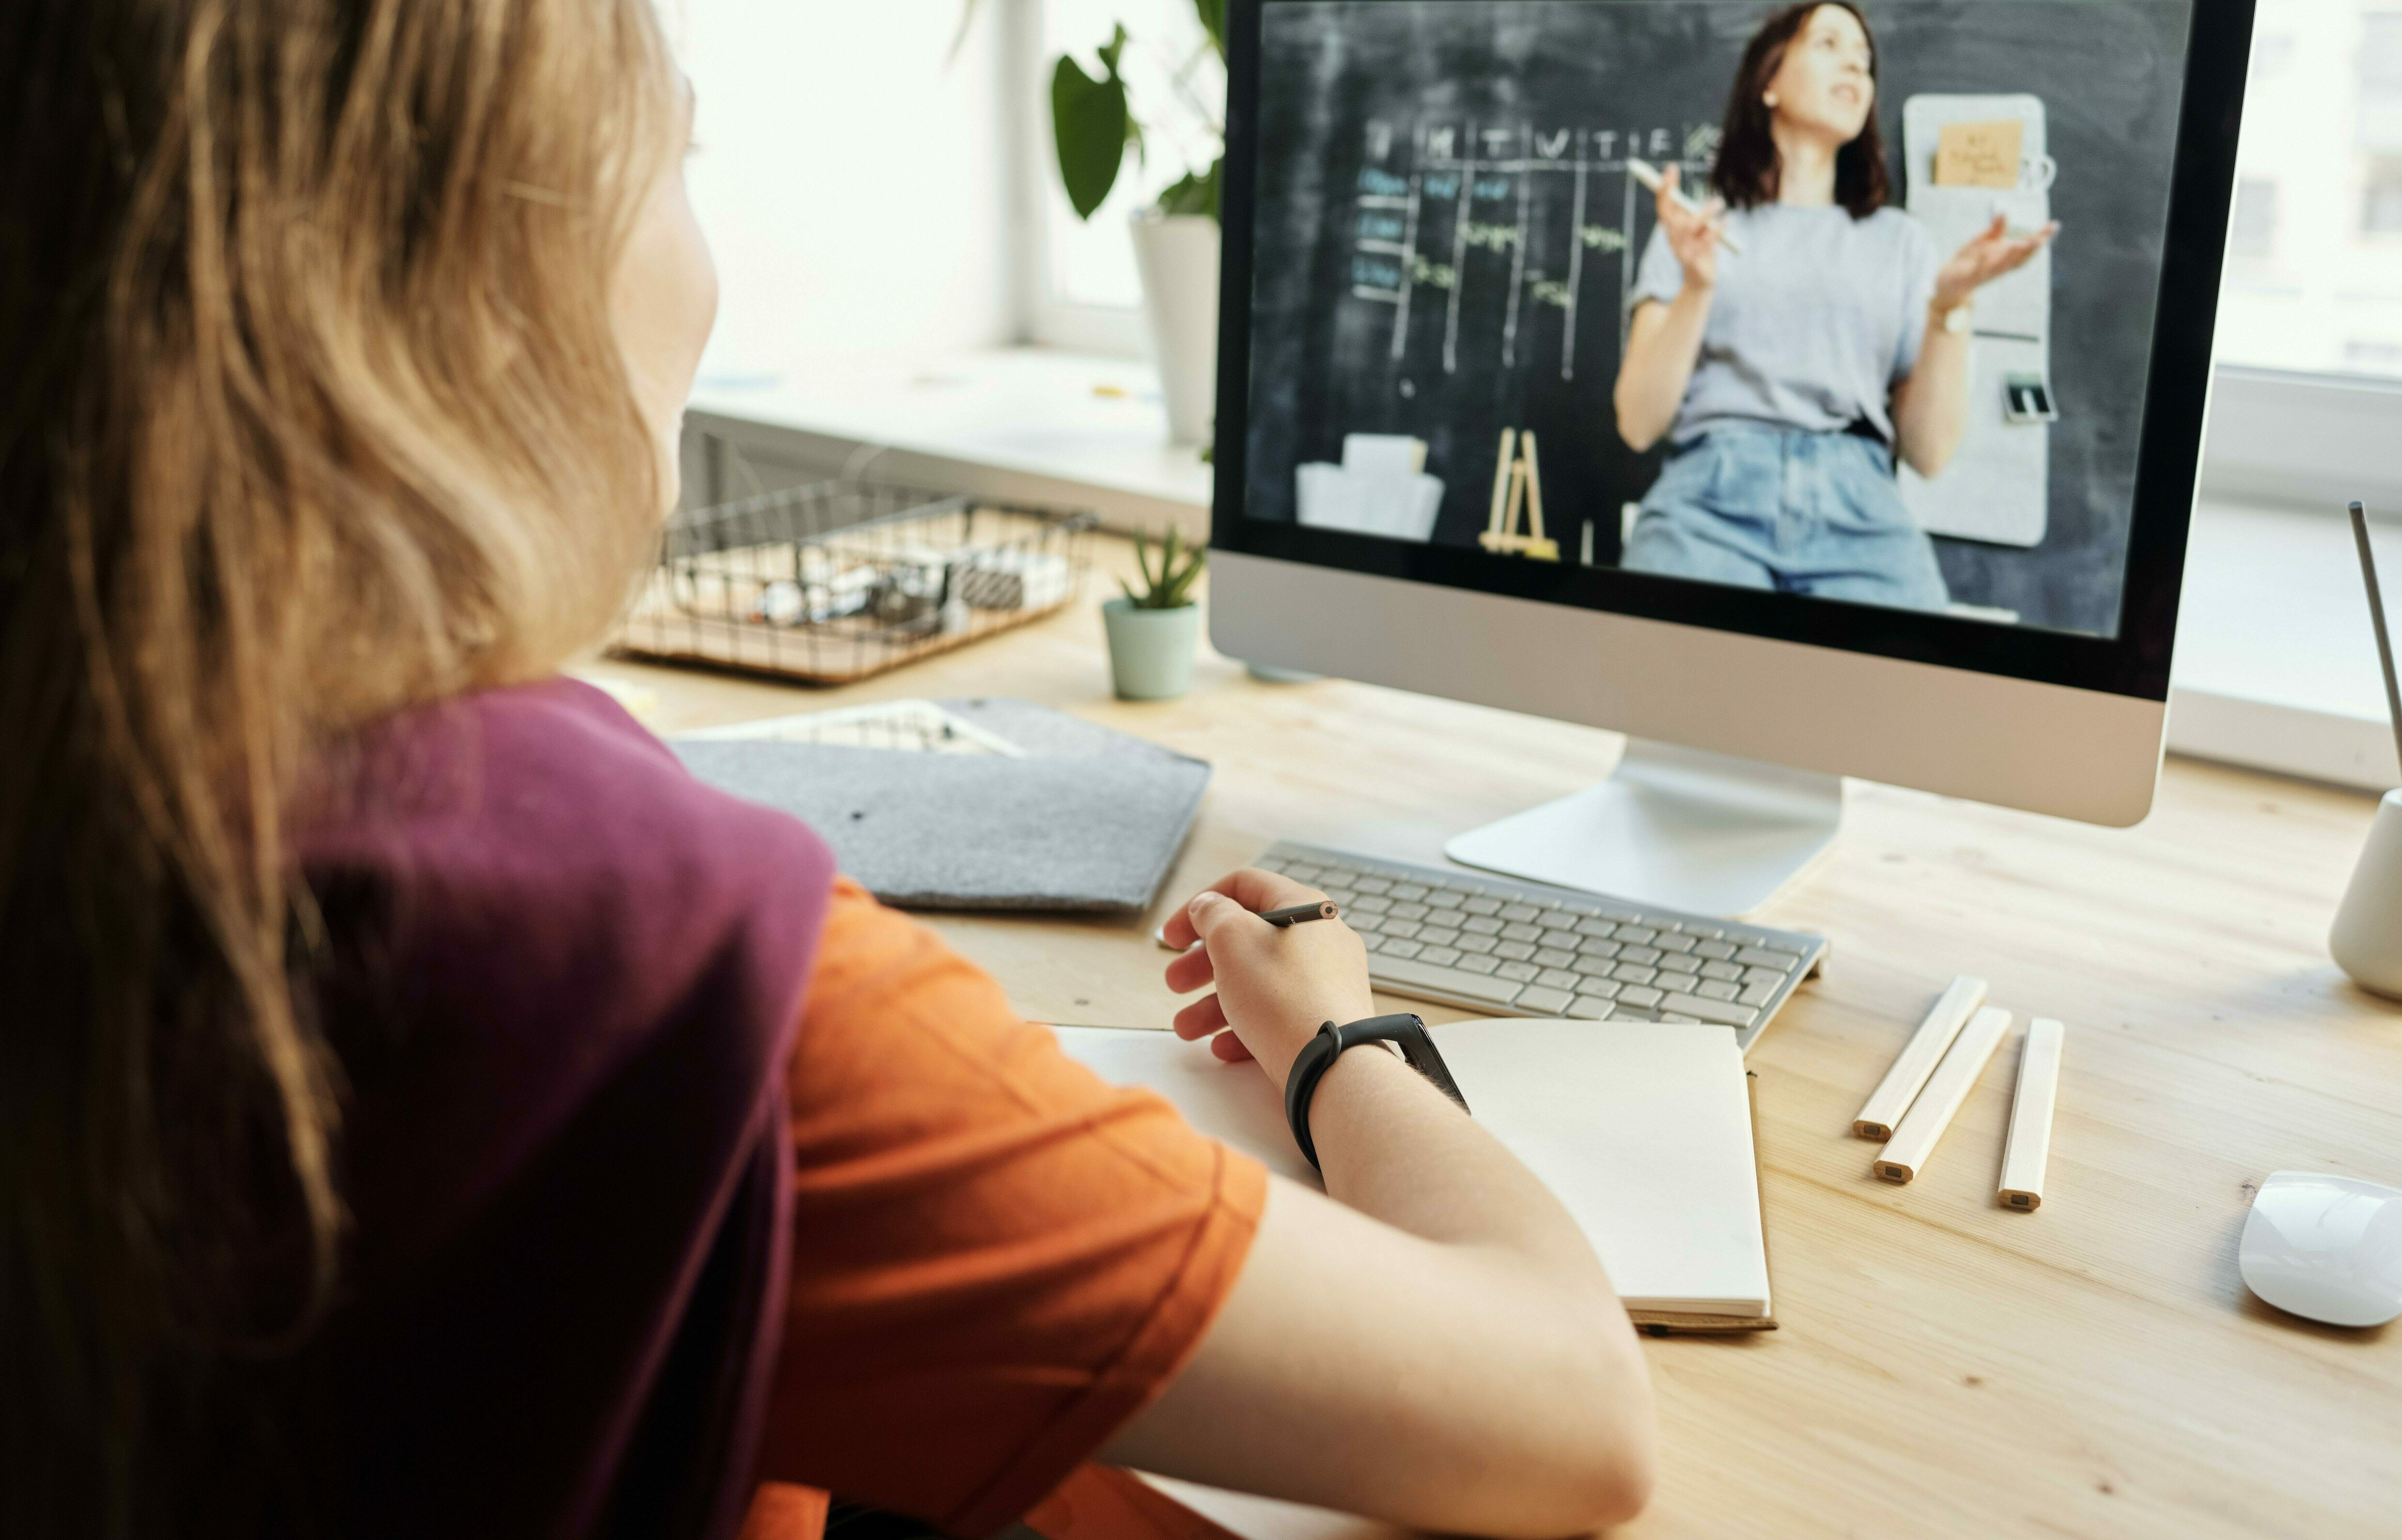
[[[1211,468],[1167,442],[1158,380],[1141,363],[1045,348],[843,360],[704,380],[692,408],[699,428],[793,464],[1208,533]],[[2376,545],[2402,610],[2402,526],[2378,526]],[[2344,519],[2224,497],[2195,509],[2169,750],[2340,786],[2402,783]]]

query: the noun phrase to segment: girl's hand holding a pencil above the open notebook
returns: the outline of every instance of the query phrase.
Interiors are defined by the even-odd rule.
[[[1167,963],[1167,987],[1189,995],[1218,985],[1215,995],[1177,1011],[1177,1035],[1218,1033],[1211,1050],[1220,1060],[1259,1060],[1283,1091],[1292,1060],[1321,1021],[1374,1016],[1360,932],[1343,920],[1278,930],[1259,918],[1261,911],[1324,896],[1290,877],[1244,867],[1170,915],[1163,927],[1170,947],[1206,944]]]

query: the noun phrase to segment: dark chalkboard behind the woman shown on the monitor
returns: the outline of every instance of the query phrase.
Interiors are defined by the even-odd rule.
[[[1268,2],[1261,14],[1244,512],[1295,517],[1295,466],[1348,432],[1427,440],[1434,538],[1487,524],[1501,428],[1542,444],[1549,533],[1614,565],[1660,452],[1612,387],[1653,231],[1629,156],[1705,180],[1756,0]],[[2049,113],[2049,531],[1938,541],[1953,598],[2116,634],[2188,0],[1864,5],[1902,185],[1902,101],[2030,91]],[[1588,529],[1590,526],[1590,529]]]

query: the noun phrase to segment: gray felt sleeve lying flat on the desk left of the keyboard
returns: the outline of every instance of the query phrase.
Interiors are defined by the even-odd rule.
[[[701,781],[817,829],[886,903],[1151,908],[1201,805],[1206,762],[1028,702],[942,706],[1028,757],[740,738],[668,747]]]

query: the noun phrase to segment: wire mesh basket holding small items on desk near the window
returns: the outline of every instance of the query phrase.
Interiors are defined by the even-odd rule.
[[[613,651],[841,685],[1071,603],[1093,514],[821,480],[668,521]]]

